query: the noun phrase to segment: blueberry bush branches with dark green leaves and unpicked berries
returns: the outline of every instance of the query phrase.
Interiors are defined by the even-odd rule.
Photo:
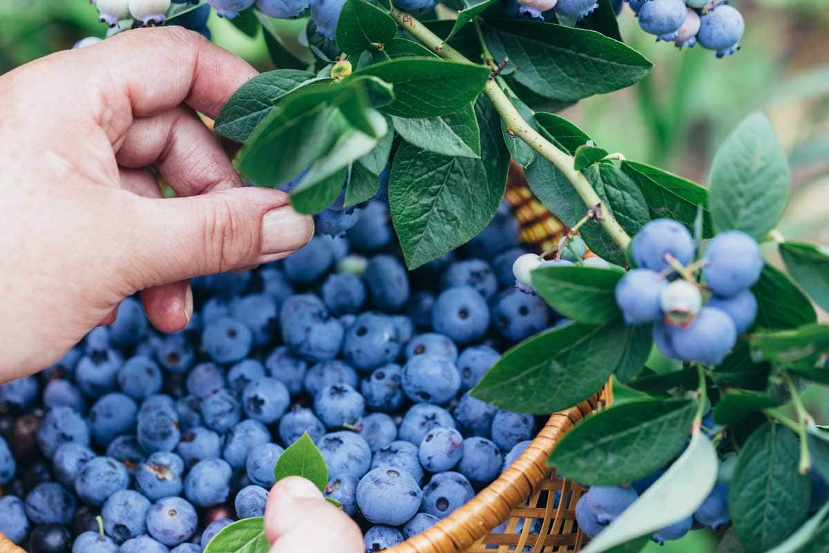
[[[626,391],[550,457],[592,487],[577,508],[593,538],[584,551],[637,551],[694,523],[718,529],[729,551],[826,551],[829,431],[803,395],[829,384],[829,326],[812,307],[829,308],[829,255],[774,230],[789,171],[763,114],[734,129],[703,187],[608,152],[555,114],[650,73],[622,41],[621,2],[211,4],[250,35],[261,27],[279,67],[233,95],[216,132],[243,144],[245,177],[289,190],[296,210],[356,206],[387,186],[414,269],[487,226],[512,161],[570,227],[559,251],[516,263],[516,277],[571,322],[513,347],[473,396],[543,415],[611,378]],[[629,4],[657,40],[737,50],[744,22],[727,2]],[[136,17],[177,24],[203,6]],[[302,52],[274,17],[307,18]],[[604,261],[563,255],[567,240]],[[759,244],[778,249],[788,274]],[[207,551],[265,551],[261,531],[245,519]]]

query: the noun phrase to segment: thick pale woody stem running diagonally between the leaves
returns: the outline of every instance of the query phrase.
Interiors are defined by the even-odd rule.
[[[414,38],[418,39],[424,44],[424,46],[428,47],[429,50],[434,51],[438,56],[447,60],[470,63],[465,56],[455,50],[452,46],[444,44],[444,41],[439,36],[435,35],[434,32],[429,31],[423,23],[419,22],[409,13],[406,13],[397,7],[392,7],[390,14],[391,17],[394,17],[400,27],[403,27],[406,32],[409,32],[410,35],[414,36]],[[510,99],[507,98],[506,94],[504,94],[504,91],[498,87],[496,80],[489,80],[483,89],[483,93],[487,95],[487,98],[489,98],[492,102],[492,105],[501,116],[501,119],[505,124],[507,124],[507,129],[511,130],[516,137],[521,138],[521,140],[529,144],[532,149],[541,154],[542,158],[545,158],[547,161],[552,163],[553,166],[555,166],[555,168],[558,169],[568,181],[570,181],[570,184],[573,185],[576,193],[578,193],[579,197],[581,197],[582,201],[584,201],[585,206],[601,206],[602,217],[599,222],[602,228],[608,233],[610,238],[616,242],[619,248],[623,251],[627,251],[628,245],[630,245],[630,236],[628,236],[628,233],[625,232],[621,225],[619,225],[616,218],[613,217],[613,213],[608,210],[607,206],[604,206],[602,198],[599,197],[599,194],[596,193],[587,178],[584,177],[581,172],[575,170],[573,156],[570,156],[570,154],[564,153],[559,148],[556,148],[553,143],[550,143],[549,140],[541,136],[541,133],[538,133],[535,129],[533,129],[531,125],[528,124],[523,117],[521,117],[521,114],[519,114],[515,106],[512,105]]]

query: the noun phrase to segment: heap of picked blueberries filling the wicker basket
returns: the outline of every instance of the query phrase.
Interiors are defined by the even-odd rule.
[[[154,332],[127,298],[56,365],[0,386],[0,532],[30,553],[203,551],[263,514],[305,432],[366,551],[497,478],[540,421],[468,390],[556,318],[513,285],[515,219],[503,207],[407,272],[385,198],[356,213],[284,261],[195,279],[182,332]]]

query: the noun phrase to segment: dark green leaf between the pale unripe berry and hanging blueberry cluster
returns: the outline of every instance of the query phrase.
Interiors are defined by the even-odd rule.
[[[624,276],[613,269],[545,267],[532,272],[532,284],[550,307],[579,323],[610,323],[622,316],[616,284]]]

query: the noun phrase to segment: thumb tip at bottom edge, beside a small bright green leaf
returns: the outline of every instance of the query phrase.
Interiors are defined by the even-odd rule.
[[[305,478],[280,480],[268,494],[264,535],[269,553],[362,553],[360,528],[350,517],[326,502]]]

